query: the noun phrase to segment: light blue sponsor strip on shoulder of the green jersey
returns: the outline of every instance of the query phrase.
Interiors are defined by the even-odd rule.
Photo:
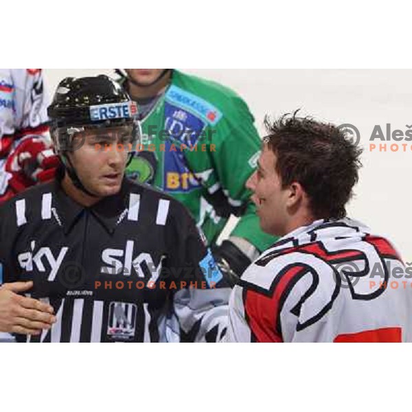
[[[200,115],[211,126],[216,126],[222,118],[222,113],[202,98],[172,84],[165,95],[165,100],[179,107],[187,108],[196,115]]]

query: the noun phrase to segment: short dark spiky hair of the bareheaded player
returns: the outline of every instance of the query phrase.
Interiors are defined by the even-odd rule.
[[[264,143],[277,157],[275,170],[284,188],[294,181],[302,185],[315,218],[343,218],[358,181],[362,149],[337,126],[297,117],[297,112],[264,120]]]

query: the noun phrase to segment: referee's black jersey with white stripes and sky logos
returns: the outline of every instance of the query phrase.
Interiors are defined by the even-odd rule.
[[[124,179],[82,207],[59,181],[0,207],[0,282],[33,280],[57,322],[27,342],[219,341],[230,288],[178,201]],[[182,336],[183,335],[183,336]]]

